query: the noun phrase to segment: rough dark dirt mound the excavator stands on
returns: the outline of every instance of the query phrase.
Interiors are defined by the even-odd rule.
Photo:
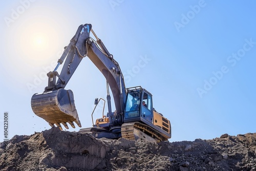
[[[57,127],[0,143],[0,170],[256,170],[256,133],[152,143]],[[8,155],[8,159],[4,157]]]

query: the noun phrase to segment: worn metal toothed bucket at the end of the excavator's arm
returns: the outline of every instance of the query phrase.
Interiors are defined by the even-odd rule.
[[[61,123],[69,129],[67,125],[69,123],[75,128],[74,122],[81,127],[71,90],[59,89],[34,94],[31,98],[31,108],[37,116],[45,119],[52,127],[55,124],[62,130]]]

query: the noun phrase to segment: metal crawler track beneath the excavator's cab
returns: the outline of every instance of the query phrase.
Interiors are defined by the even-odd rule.
[[[121,127],[121,135],[125,139],[138,140],[144,139],[147,141],[166,141],[167,139],[157,133],[150,126],[140,122],[123,123]]]

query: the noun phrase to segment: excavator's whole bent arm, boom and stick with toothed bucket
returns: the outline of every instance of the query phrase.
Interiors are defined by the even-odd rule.
[[[97,39],[96,41],[90,37],[90,32],[94,34]],[[70,44],[65,48],[65,51],[58,60],[54,71],[47,74],[49,77],[48,87],[45,88],[43,93],[34,94],[31,98],[33,112],[37,116],[45,119],[52,127],[55,124],[62,129],[61,123],[68,129],[67,123],[75,127],[73,122],[81,127],[74,104],[73,92],[71,90],[65,90],[64,88],[80,61],[86,56],[90,58],[94,65],[100,70],[110,86],[117,114],[114,124],[120,125],[123,123],[123,111],[126,99],[123,75],[118,63],[113,59],[113,56],[108,50],[106,50],[103,42],[93,32],[92,25],[85,24],[78,27]],[[63,62],[61,73],[58,74],[56,70]],[[56,81],[57,77],[58,80]],[[108,105],[109,113],[111,114],[109,95]]]

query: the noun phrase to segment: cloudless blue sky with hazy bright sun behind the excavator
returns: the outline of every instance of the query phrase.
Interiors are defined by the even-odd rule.
[[[169,141],[254,133],[255,5],[214,0],[1,2],[2,130],[4,112],[9,113],[9,138],[50,129],[33,113],[31,97],[44,91],[46,73],[78,26],[90,23],[119,62],[126,87],[142,86],[153,94],[154,108],[172,123]],[[106,99],[104,77],[84,58],[66,88],[74,93],[82,127],[90,127],[94,98]]]

